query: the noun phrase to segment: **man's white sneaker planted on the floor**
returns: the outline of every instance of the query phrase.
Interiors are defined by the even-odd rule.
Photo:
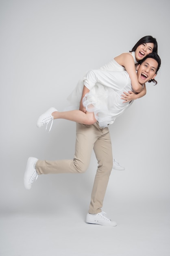
[[[109,220],[106,217],[106,213],[104,211],[98,213],[98,214],[90,214],[87,213],[86,222],[91,224],[98,224],[102,226],[107,227],[115,227],[117,226],[117,223],[113,220]]]

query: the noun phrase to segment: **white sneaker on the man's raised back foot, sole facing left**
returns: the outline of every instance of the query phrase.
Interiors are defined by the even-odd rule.
[[[38,159],[35,157],[29,157],[26,165],[26,170],[24,173],[24,186],[26,189],[31,189],[31,186],[35,180],[37,180],[38,173],[35,170],[35,164]]]

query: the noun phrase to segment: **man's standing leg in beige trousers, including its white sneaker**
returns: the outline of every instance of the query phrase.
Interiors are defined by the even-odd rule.
[[[115,227],[117,223],[110,220],[110,218],[107,218],[106,213],[101,211],[113,165],[109,130],[108,128],[104,128],[101,131],[102,135],[98,137],[98,140],[94,144],[94,152],[98,159],[98,169],[94,180],[89,213],[87,213],[86,222]]]

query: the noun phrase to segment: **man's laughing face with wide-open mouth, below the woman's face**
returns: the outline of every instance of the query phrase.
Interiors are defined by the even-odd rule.
[[[144,84],[154,79],[157,67],[158,63],[153,58],[147,58],[141,65],[138,65],[136,70],[139,83]]]

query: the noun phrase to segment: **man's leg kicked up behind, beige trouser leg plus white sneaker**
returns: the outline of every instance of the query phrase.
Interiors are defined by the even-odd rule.
[[[92,149],[97,138],[95,126],[76,124],[74,159],[46,161],[30,157],[24,175],[26,189],[31,189],[33,182],[41,174],[85,172],[89,166]]]

